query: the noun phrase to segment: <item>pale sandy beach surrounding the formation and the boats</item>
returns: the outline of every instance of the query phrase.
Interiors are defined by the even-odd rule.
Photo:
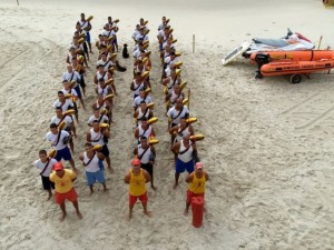
[[[317,0],[148,0],[0,2],[0,249],[190,249],[190,250],[331,250],[334,249],[334,84],[333,76],[314,73],[299,84],[286,77],[256,80],[256,67],[238,58],[223,67],[220,59],[254,37],[279,38],[286,29],[303,33],[321,48],[334,48],[334,8]],[[55,116],[52,103],[61,89],[66,56],[80,13],[92,14],[95,43],[107,17],[119,18],[119,44],[128,43],[139,18],[148,20],[153,51],[151,84],[156,146],[154,192],[148,188],[153,218],[139,204],[128,212],[128,186],[134,138],[131,108],[132,59],[118,59],[128,71],[117,72],[111,139],[114,174],[109,191],[89,188],[79,162],[91,110],[80,108],[73,159],[81,173],[75,182],[84,219],[67,203],[59,222],[55,199],[46,201],[33,161],[49,149],[45,136]],[[198,153],[210,174],[204,226],[183,216],[187,184],[173,190],[174,161],[166,132],[167,118],[159,83],[157,27],[170,18],[183,52],[183,79],[191,89],[195,132],[206,138]],[[191,38],[196,36],[196,51]],[[87,72],[86,103],[96,100],[92,77],[98,50]],[[67,163],[68,164],[68,163]]]

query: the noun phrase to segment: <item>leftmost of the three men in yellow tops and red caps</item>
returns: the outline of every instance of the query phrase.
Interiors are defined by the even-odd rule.
[[[56,203],[60,206],[62,211],[60,221],[63,221],[66,217],[66,200],[73,203],[78,218],[82,219],[82,214],[79,211],[78,194],[72,183],[77,179],[76,173],[72,170],[63,169],[61,162],[57,162],[53,166],[53,170],[55,171],[50,174],[50,181],[56,186]]]

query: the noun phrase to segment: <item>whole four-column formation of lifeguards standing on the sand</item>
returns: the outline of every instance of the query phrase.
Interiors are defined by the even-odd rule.
[[[62,73],[61,84],[53,103],[55,114],[50,119],[50,131],[46,134],[46,140],[51,143],[51,150],[39,151],[39,159],[35,166],[40,170],[43,189],[48,191],[48,200],[52,197],[52,189],[56,189],[56,203],[59,204],[62,213],[60,220],[66,216],[65,201],[72,202],[79,219],[82,214],[79,210],[78,194],[73,188],[78,170],[72,158],[75,153],[75,139],[77,138],[76,123],[79,122],[79,108],[91,109],[91,117],[88,119],[85,151],[80,153],[80,164],[85,166],[87,184],[90,194],[94,193],[94,184],[101,183],[104,191],[107,190],[105,168],[114,173],[109,157],[108,141],[110,139],[110,124],[112,122],[112,102],[117,96],[114,73],[115,71],[126,71],[117,60],[119,20],[107,18],[102,33],[96,42],[98,58],[96,73],[92,82],[86,80],[86,69],[92,56],[91,48],[91,21],[92,17],[86,18],[81,13],[80,20],[76,23],[69,52],[66,57],[66,71]],[[150,96],[151,82],[149,72],[151,69],[150,53],[148,50],[149,29],[147,21],[143,18],[136,26],[132,39],[134,48],[134,80],[130,82],[132,91],[132,108],[136,129],[134,132],[137,146],[134,149],[131,169],[126,173],[124,181],[129,184],[129,214],[131,219],[134,206],[140,200],[144,213],[148,217],[151,212],[147,209],[148,196],[146,183],[150,182],[153,190],[156,190],[154,182],[154,166],[156,161],[155,138],[153,124],[157,121],[154,117],[154,102]],[[176,39],[173,37],[173,29],[169,19],[163,18],[158,27],[159,57],[161,59],[161,84],[164,87],[164,98],[166,101],[166,112],[168,117],[168,132],[170,133],[170,150],[175,157],[175,183],[178,186],[180,173],[188,171],[186,182],[188,182],[185,214],[188,213],[191,197],[204,196],[205,183],[208,174],[203,170],[204,166],[197,156],[196,137],[190,124],[196,121],[189,117],[189,92],[188,97],[183,92],[187,82],[181,81],[179,60],[180,53],[176,51]],[[127,46],[122,51],[124,58],[128,57]],[[159,67],[159,66],[157,66]],[[91,104],[85,103],[86,82],[88,88],[94,88],[96,101]],[[186,106],[188,104],[188,107]],[[68,161],[71,169],[63,167],[63,161]]]

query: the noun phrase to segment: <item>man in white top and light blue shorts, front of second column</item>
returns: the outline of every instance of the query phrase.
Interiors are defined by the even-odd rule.
[[[100,152],[96,152],[91,143],[87,142],[85,144],[85,152],[79,157],[86,167],[86,179],[87,184],[90,189],[90,194],[92,194],[92,186],[96,181],[100,182],[104,186],[104,191],[107,191],[106,178],[105,178],[105,169],[102,160],[105,160],[105,156]]]

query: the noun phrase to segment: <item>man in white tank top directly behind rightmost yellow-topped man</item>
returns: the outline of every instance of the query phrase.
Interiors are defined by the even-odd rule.
[[[177,154],[175,162],[175,182],[173,189],[178,186],[179,174],[187,170],[194,171],[194,162],[198,160],[196,142],[190,140],[189,134],[184,136],[180,142],[173,144],[171,151]]]

